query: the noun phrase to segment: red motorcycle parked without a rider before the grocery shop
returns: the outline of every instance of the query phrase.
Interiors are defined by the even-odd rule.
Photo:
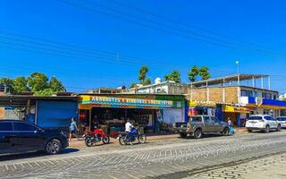
[[[103,141],[104,144],[110,142],[109,136],[101,129],[95,129],[93,132],[86,132],[82,137],[88,147],[95,146],[99,141]]]

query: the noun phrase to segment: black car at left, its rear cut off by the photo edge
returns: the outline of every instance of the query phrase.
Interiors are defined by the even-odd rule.
[[[44,130],[19,120],[0,120],[0,156],[38,150],[57,154],[68,146],[63,132]]]

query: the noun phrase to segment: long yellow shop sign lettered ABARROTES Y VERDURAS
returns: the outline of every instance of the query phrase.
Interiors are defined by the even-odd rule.
[[[181,107],[181,105],[174,105],[173,101],[169,100],[152,100],[141,98],[113,98],[100,96],[81,96],[81,105],[109,105],[111,107],[154,107],[154,108],[171,108]]]

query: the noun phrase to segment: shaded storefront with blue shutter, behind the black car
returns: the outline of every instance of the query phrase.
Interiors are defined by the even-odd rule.
[[[23,120],[45,129],[68,132],[71,117],[78,117],[78,97],[0,97],[0,120]]]

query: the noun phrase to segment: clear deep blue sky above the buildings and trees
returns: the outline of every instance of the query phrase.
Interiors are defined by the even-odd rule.
[[[176,70],[187,82],[192,65],[219,77],[240,60],[241,73],[271,74],[273,89],[286,92],[285,8],[282,0],[3,0],[0,77],[45,72],[82,91],[129,86],[142,64],[152,81]]]

